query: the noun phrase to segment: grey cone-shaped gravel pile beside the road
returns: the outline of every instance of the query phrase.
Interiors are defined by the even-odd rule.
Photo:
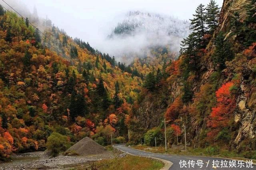
[[[70,147],[66,152],[75,152],[79,155],[92,155],[92,154],[107,154],[107,151],[104,147],[90,139],[89,137],[85,137],[80,140],[78,143]]]

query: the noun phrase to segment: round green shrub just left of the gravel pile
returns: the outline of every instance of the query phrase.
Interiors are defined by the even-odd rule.
[[[57,156],[60,152],[64,152],[71,146],[68,141],[68,137],[61,135],[60,133],[53,132],[48,138],[46,143],[46,149],[50,151],[52,156]]]

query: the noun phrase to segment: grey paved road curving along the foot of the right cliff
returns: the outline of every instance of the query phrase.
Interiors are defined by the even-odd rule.
[[[230,161],[232,160],[229,160],[229,159],[212,158],[212,157],[204,157],[204,156],[180,156],[180,155],[170,155],[170,154],[155,154],[150,152],[144,152],[142,150],[132,149],[130,147],[125,147],[125,145],[114,145],[114,147],[124,152],[128,152],[130,154],[134,154],[138,156],[150,156],[154,158],[169,160],[173,163],[170,170],[216,170],[216,169],[217,170],[256,170],[256,165],[252,165],[253,168],[251,167],[246,168],[246,165],[248,166],[250,165],[246,164],[246,162],[243,162],[243,161],[242,162],[235,161],[233,163],[233,167],[231,167],[232,165],[230,165]],[[216,164],[214,164],[215,167],[212,166],[213,161],[216,162]],[[219,163],[217,161],[219,161]],[[222,166],[221,166],[221,161],[223,161]],[[180,163],[180,162],[183,162],[183,163]],[[200,164],[197,164],[201,162],[203,163],[202,168],[201,166],[199,166]],[[239,166],[238,166],[238,163],[240,163]],[[192,165],[194,165],[194,167]],[[242,165],[244,165],[244,167],[241,168]],[[224,166],[227,166],[227,168],[225,168]]]

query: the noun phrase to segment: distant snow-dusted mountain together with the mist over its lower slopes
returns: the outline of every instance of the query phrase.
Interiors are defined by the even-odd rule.
[[[166,53],[169,51],[178,54],[180,41],[189,32],[189,21],[130,11],[112,29],[106,41],[109,53],[113,53],[120,61],[130,63],[136,57],[154,57],[151,50],[160,48]]]

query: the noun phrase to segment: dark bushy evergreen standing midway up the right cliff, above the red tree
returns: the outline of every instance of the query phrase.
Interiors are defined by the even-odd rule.
[[[230,61],[234,57],[234,53],[231,50],[230,42],[225,40],[225,36],[223,32],[220,32],[216,40],[215,44],[215,51],[212,55],[212,59],[215,65],[222,70],[225,68],[225,62]]]

